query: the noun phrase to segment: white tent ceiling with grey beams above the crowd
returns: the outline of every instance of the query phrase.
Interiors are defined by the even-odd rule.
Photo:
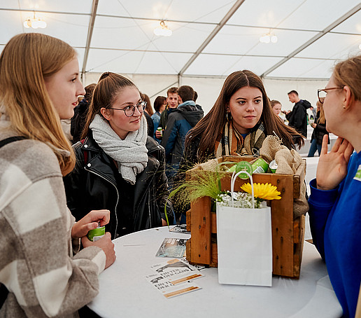
[[[36,15],[46,29],[25,29]],[[0,0],[0,50],[15,34],[43,32],[75,47],[83,71],[265,78],[329,78],[360,53],[357,0]],[[155,36],[166,21],[172,36]],[[277,43],[260,43],[273,32]]]

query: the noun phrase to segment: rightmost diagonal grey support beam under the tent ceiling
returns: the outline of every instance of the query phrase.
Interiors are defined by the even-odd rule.
[[[304,50],[305,48],[307,48],[308,46],[311,46],[312,43],[316,42],[318,39],[320,39],[321,37],[323,37],[325,34],[329,33],[332,29],[334,29],[335,27],[337,27],[338,25],[341,25],[342,22],[344,22],[345,20],[347,20],[348,18],[351,17],[351,15],[354,15],[355,13],[357,13],[358,11],[361,10],[361,4],[358,4],[357,6],[355,6],[354,8],[352,8],[350,11],[348,11],[347,13],[345,13],[344,15],[342,15],[341,18],[337,19],[336,21],[334,21],[331,25],[329,25],[328,27],[326,27],[323,31],[321,31],[320,33],[318,33],[316,36],[313,36],[312,39],[310,39],[309,41],[307,41],[306,43],[304,43],[302,46],[300,46],[299,48],[297,48],[296,50],[294,50],[290,55],[286,56],[285,58],[283,58],[283,60],[281,60],[280,62],[278,62],[277,64],[275,64],[273,67],[271,67],[270,69],[267,69],[267,71],[265,71],[262,75],[261,78],[264,78],[265,76],[267,76],[268,74],[270,74],[272,71],[274,71],[275,69],[277,69],[278,67],[281,67],[282,64],[285,64],[285,62],[287,62],[288,60],[290,60],[292,57],[295,57],[295,55],[297,55],[298,53],[300,53],[302,50]]]

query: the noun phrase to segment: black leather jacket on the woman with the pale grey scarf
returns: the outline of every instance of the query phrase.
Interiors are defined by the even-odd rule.
[[[118,215],[122,202],[119,202],[120,191],[112,168],[113,159],[99,147],[92,135],[84,144],[75,144],[76,167],[73,172],[64,177],[66,201],[76,220],[83,218],[93,209],[108,209],[111,211],[111,221],[106,230],[112,238],[118,237],[120,227]],[[136,176],[134,186],[132,232],[162,226],[164,205],[167,205],[169,224],[173,224],[174,214],[171,202],[168,200],[167,177],[164,173],[164,148],[154,139],[148,137],[147,167]],[[85,153],[87,153],[85,155]],[[86,162],[85,162],[86,161]]]

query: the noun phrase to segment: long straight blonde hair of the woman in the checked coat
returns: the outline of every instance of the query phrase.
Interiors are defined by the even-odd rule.
[[[0,102],[13,128],[29,139],[69,151],[70,157],[55,153],[63,175],[73,170],[76,160],[44,78],[57,73],[74,57],[76,51],[69,44],[38,33],[14,36],[0,56]]]

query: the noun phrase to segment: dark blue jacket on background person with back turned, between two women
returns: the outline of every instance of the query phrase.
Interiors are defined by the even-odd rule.
[[[178,166],[183,156],[185,135],[199,122],[203,114],[204,112],[190,101],[180,104],[176,111],[169,114],[162,139],[167,163]]]

